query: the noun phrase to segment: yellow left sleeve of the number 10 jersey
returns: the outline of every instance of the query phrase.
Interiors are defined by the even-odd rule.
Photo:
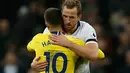
[[[37,34],[33,37],[33,39],[28,43],[27,45],[27,50],[28,51],[34,51],[35,50],[35,47],[37,45],[37,38],[40,34]]]

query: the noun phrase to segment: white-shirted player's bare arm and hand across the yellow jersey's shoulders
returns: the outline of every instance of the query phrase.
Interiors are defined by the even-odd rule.
[[[90,32],[88,35],[92,38],[92,32]],[[71,48],[76,54],[78,54],[81,57],[87,57],[90,60],[96,60],[98,59],[98,43],[96,42],[96,37],[93,37],[93,39],[88,39],[86,41],[85,46],[80,46],[72,41],[68,40],[65,36],[57,36],[57,35],[52,35],[51,40],[53,40],[53,44],[58,44],[61,46],[66,46]]]

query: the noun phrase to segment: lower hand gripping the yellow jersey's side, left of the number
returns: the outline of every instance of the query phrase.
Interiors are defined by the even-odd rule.
[[[40,57],[35,57],[33,59],[33,62],[31,63],[31,68],[35,69],[36,71],[44,71],[48,65],[47,61],[45,62],[38,62]]]

